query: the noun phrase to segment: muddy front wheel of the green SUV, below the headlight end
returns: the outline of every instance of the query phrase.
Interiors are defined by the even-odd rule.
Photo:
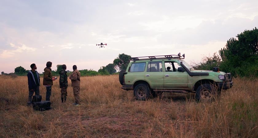
[[[195,94],[195,99],[200,102],[200,101],[207,101],[207,102],[212,102],[215,100],[217,94],[217,90],[213,87],[211,84],[202,84],[200,85]]]

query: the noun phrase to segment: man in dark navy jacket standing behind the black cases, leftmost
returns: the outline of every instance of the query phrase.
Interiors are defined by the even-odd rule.
[[[32,102],[32,96],[35,92],[35,95],[39,95],[39,84],[40,79],[37,70],[36,64],[30,65],[31,70],[28,72],[28,85],[29,85],[29,102]]]

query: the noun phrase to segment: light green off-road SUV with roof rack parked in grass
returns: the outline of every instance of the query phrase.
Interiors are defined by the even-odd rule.
[[[120,71],[124,90],[134,90],[138,100],[146,100],[163,92],[193,92],[199,100],[210,100],[222,89],[233,86],[230,73],[194,70],[184,60],[185,54],[132,57],[127,69]]]

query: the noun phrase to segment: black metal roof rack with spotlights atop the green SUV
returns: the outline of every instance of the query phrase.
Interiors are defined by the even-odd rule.
[[[183,58],[182,58],[183,57]],[[178,53],[178,55],[164,55],[164,56],[141,56],[141,57],[131,57],[131,60],[146,60],[146,59],[185,59],[185,54],[181,56],[181,53]]]

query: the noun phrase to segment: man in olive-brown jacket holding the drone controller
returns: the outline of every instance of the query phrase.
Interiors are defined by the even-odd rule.
[[[55,77],[52,76],[51,73],[51,67],[52,67],[52,62],[48,61],[46,63],[45,69],[44,69],[44,78],[43,78],[43,85],[46,87],[46,101],[50,101],[50,96],[51,96],[51,88],[53,85],[53,81],[56,80]]]

